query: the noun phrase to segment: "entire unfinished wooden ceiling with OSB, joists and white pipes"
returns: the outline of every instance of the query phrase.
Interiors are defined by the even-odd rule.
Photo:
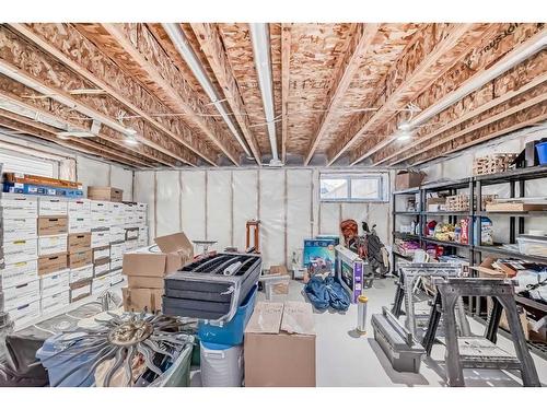
[[[416,166],[545,121],[546,38],[532,23],[0,24],[0,129],[135,168],[276,152]]]

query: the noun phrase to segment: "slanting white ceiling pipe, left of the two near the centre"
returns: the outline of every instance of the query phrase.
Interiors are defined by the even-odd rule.
[[[186,35],[184,34],[183,30],[177,23],[162,23],[163,30],[167,33],[167,35],[171,38],[171,42],[174,44],[176,47],[178,54],[184,58],[188,67],[190,68],[191,72],[196,77],[196,79],[199,81],[199,84],[206,92],[206,94],[209,96],[211,99],[212,104],[219,112],[219,114],[222,116],[224,121],[228,125],[228,128],[230,131],[233,133],[240,145],[243,148],[245,151],[245,154],[247,156],[253,156],[251,153],[247,144],[243,140],[243,138],[240,136],[237,130],[235,129],[234,124],[232,122],[232,119],[230,118],[229,114],[226,113],[224,105],[222,104],[223,99],[219,98],[217,95],[217,92],[214,91],[214,87],[212,86],[211,81],[209,80],[209,77],[207,75],[206,71],[203,70],[203,67],[199,62],[199,59],[197,58],[196,54],[191,49],[191,46],[188,43],[188,39],[186,38]]]

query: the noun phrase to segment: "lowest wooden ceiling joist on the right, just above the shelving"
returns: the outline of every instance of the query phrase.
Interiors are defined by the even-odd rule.
[[[545,101],[545,98],[544,98]],[[432,161],[439,156],[444,156],[450,153],[464,150],[472,145],[489,141],[519,129],[540,124],[547,119],[547,104],[539,103],[527,109],[520,110],[507,117],[500,117],[497,121],[490,122],[487,126],[466,132],[459,136],[458,139],[450,140],[438,147],[435,150],[422,153],[416,156],[411,164],[419,165]]]

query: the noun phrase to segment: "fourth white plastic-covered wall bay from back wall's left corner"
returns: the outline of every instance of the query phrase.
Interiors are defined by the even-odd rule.
[[[217,241],[214,249],[232,246],[232,172],[207,174],[207,237]]]

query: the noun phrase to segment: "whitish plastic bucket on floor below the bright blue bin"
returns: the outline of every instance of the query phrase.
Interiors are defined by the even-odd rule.
[[[241,387],[243,382],[243,344],[200,343],[201,385],[203,387]]]

